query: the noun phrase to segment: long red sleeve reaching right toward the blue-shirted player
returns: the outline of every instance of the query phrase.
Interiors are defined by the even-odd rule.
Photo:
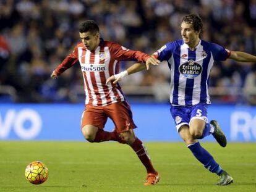
[[[140,62],[146,62],[147,59],[151,57],[148,54],[145,54],[144,52],[127,49],[114,42],[111,43],[110,48],[111,54],[113,54],[114,59],[116,59],[117,61],[136,59]]]

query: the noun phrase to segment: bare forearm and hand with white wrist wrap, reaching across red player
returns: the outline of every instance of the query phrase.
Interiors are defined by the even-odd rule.
[[[117,73],[115,75],[112,75],[106,80],[106,85],[108,85],[109,82],[113,81],[113,83],[117,83],[118,81],[122,80],[122,78],[126,77],[127,75],[130,75],[132,73],[139,72],[143,69],[146,69],[147,66],[143,63],[135,63],[132,66],[130,66],[127,70],[124,70],[123,72]]]

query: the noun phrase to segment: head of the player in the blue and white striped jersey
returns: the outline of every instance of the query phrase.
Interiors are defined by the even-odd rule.
[[[197,14],[185,15],[181,22],[181,36],[184,43],[194,44],[203,30],[203,22]]]

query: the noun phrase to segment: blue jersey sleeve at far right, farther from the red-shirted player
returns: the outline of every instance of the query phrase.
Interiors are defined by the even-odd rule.
[[[225,61],[230,56],[231,52],[216,43],[211,43],[211,52],[215,61]]]

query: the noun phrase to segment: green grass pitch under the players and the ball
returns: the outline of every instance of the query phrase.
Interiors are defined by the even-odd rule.
[[[145,143],[160,173],[160,183],[143,186],[146,172],[132,149],[114,142],[0,142],[0,191],[256,191],[256,143],[202,143],[234,178],[216,186],[208,172],[183,143]],[[25,179],[28,163],[43,161],[49,169],[46,183]]]

